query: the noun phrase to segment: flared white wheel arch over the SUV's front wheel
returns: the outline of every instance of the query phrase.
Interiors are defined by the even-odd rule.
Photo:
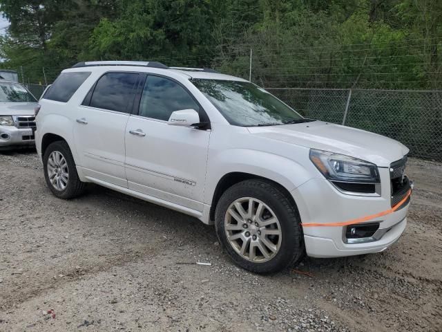
[[[209,158],[210,160],[210,158]],[[204,203],[211,205],[213,194],[223,176],[242,172],[268,178],[285,187],[288,192],[312,178],[300,163],[269,152],[251,149],[228,149],[221,151],[209,161],[204,190]]]

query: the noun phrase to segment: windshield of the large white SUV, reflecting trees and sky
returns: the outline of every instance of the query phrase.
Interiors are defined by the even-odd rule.
[[[310,121],[250,82],[205,79],[193,79],[191,82],[230,124],[236,126],[273,126]]]

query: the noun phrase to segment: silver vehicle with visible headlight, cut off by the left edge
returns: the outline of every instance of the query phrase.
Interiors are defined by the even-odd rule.
[[[0,151],[35,146],[35,107],[24,86],[0,80]]]

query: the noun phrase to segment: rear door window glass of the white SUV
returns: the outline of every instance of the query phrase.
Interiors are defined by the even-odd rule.
[[[130,113],[137,73],[106,73],[98,80],[90,107]]]

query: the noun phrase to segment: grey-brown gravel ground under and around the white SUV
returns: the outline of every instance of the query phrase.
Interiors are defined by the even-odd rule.
[[[0,154],[0,331],[442,331],[442,164],[407,172],[392,248],[260,276],[190,216],[102,187],[61,201],[34,152]]]

